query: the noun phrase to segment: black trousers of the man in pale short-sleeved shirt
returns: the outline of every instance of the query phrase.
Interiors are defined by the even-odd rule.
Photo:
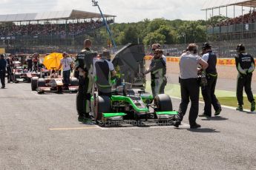
[[[183,120],[186,114],[189,99],[191,108],[189,110],[189,124],[193,126],[196,123],[199,108],[199,84],[197,78],[180,79],[181,103],[179,108],[179,118]]]

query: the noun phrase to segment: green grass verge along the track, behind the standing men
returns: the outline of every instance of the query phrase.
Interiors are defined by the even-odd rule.
[[[147,81],[147,86],[145,90],[147,92],[151,92],[150,81]],[[180,98],[180,85],[167,84],[165,86],[165,94],[168,94],[172,97]],[[221,105],[237,107],[236,92],[216,89],[215,95],[217,96],[217,99],[220,101]],[[243,108],[251,109],[251,103],[249,103],[248,99],[246,98],[246,94],[243,94],[243,96],[245,96],[243,98],[243,103],[244,103]],[[255,98],[256,98],[256,95],[255,95]],[[200,94],[200,101],[203,101],[201,94]]]

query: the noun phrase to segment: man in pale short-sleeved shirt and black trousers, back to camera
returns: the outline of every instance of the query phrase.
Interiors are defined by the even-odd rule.
[[[200,87],[198,83],[198,64],[202,66],[202,69],[206,69],[208,64],[199,55],[197,55],[197,45],[189,44],[188,52],[183,53],[180,56],[180,93],[181,102],[179,113],[174,122],[174,126],[179,127],[183,116],[188,109],[189,99],[191,100],[191,108],[189,111],[189,124],[191,129],[199,128],[197,124],[197,115],[199,108],[199,92]]]

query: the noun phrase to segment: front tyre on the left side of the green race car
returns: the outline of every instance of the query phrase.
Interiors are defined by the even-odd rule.
[[[96,105],[96,106],[95,106]],[[93,116],[96,121],[102,120],[102,113],[111,111],[111,99],[108,96],[102,95],[96,98],[94,103]]]

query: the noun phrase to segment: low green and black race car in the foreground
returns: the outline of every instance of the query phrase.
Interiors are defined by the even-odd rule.
[[[120,87],[118,87],[120,89]],[[116,92],[111,97],[97,96],[91,98],[93,116],[101,126],[130,123],[142,125],[145,122],[157,122],[171,125],[176,111],[172,109],[171,98],[168,95],[152,95],[136,89],[127,92]],[[94,100],[94,98],[96,100]]]

